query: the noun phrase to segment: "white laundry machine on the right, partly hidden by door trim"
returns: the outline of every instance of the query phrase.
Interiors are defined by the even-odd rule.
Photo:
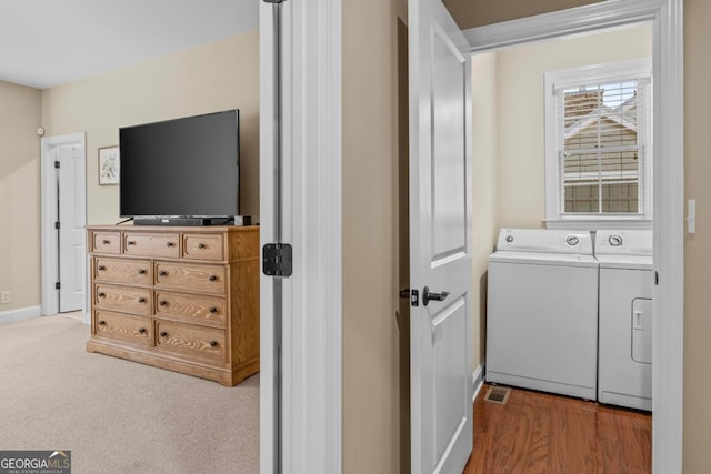
[[[652,231],[598,231],[598,401],[652,410]]]

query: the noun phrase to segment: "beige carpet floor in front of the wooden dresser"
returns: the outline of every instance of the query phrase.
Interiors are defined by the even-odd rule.
[[[70,450],[74,474],[259,472],[259,374],[226,387],[90,354],[89,331],[0,324],[0,450]]]

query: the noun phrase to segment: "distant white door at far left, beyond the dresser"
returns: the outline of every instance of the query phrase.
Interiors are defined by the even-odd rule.
[[[83,307],[86,281],[84,161],[80,144],[54,150],[58,171],[59,312]]]

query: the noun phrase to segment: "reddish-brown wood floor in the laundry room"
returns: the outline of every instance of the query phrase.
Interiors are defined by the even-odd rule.
[[[652,417],[513,389],[505,405],[474,403],[474,451],[464,474],[648,474]]]

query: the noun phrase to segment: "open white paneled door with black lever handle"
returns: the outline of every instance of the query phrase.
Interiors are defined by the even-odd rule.
[[[460,474],[473,443],[470,63],[440,0],[408,11],[412,472]]]

